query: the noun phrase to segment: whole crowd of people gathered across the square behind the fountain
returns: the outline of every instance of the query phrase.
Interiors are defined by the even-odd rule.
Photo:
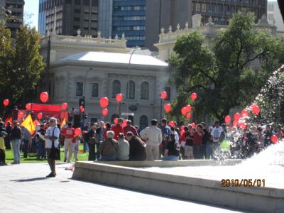
[[[283,138],[282,126],[272,127],[246,125],[246,129],[227,126],[219,121],[214,126],[204,122],[192,126],[180,126],[173,122],[169,126],[166,119],[153,119],[151,126],[138,129],[131,121],[119,118],[117,124],[87,123],[82,128],[82,135],[75,136],[72,123],[67,123],[62,129],[57,119],[50,118],[47,124],[36,127],[35,134],[31,133],[14,120],[6,125],[0,119],[0,165],[6,165],[5,148],[13,149],[13,163],[20,163],[20,151],[23,158],[28,153],[37,154],[37,159],[47,159],[51,173],[55,177],[55,160],[50,159],[53,146],[63,147],[65,159],[71,163],[72,155],[78,160],[80,143],[84,143],[83,152],[89,151],[88,160],[188,160],[188,159],[219,159],[219,158],[249,158],[271,145],[271,136]],[[12,145],[12,146],[11,146]]]

